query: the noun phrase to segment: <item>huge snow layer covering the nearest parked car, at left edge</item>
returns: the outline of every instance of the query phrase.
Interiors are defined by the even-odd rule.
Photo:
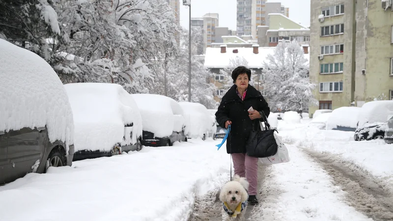
[[[51,142],[74,142],[63,84],[40,56],[0,39],[0,131],[47,126]]]

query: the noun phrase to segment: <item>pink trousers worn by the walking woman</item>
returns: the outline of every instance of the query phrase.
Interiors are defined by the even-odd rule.
[[[249,195],[256,195],[258,186],[258,158],[249,157],[247,154],[231,154],[235,174],[246,177],[250,183]]]

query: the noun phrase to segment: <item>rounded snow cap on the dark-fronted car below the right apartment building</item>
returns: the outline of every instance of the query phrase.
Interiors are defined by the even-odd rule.
[[[359,126],[365,124],[378,124],[388,121],[388,116],[393,111],[393,101],[371,101],[362,106],[358,115]]]

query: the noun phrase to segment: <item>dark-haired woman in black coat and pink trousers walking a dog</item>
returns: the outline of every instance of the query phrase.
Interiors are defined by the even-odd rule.
[[[246,143],[250,132],[260,130],[262,111],[269,116],[270,108],[253,86],[249,85],[251,70],[239,66],[232,71],[234,85],[226,92],[216,112],[217,122],[221,127],[231,125],[230,136],[226,141],[226,152],[232,155],[235,174],[246,177],[250,183],[249,203],[258,204],[256,188],[258,186],[258,158],[246,154]],[[248,111],[253,107],[253,111]]]

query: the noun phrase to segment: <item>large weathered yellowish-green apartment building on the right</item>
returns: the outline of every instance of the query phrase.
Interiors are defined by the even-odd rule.
[[[310,113],[393,99],[391,3],[311,1],[310,80],[319,105]]]

